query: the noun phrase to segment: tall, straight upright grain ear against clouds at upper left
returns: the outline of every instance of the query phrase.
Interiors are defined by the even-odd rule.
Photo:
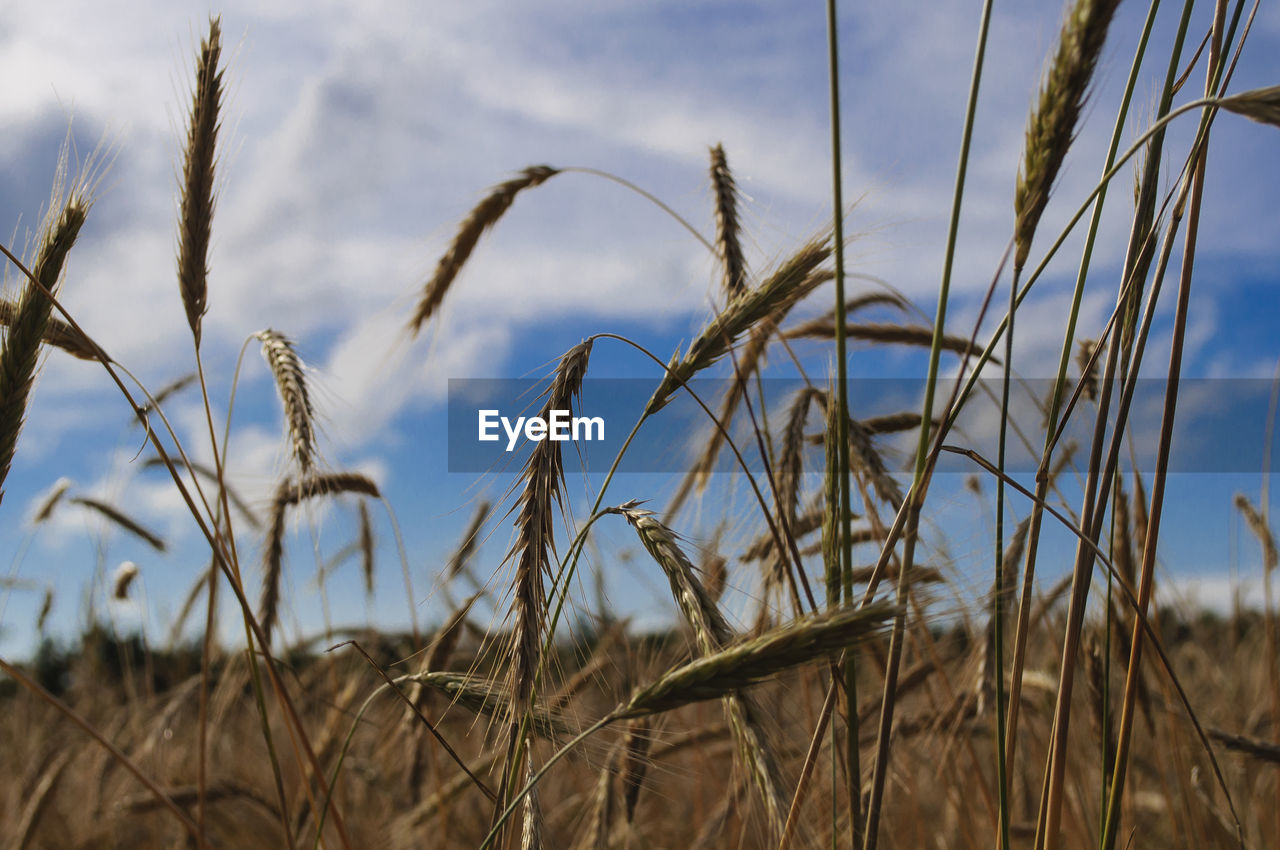
[[[196,64],[178,229],[178,287],[197,348],[201,323],[209,309],[209,230],[214,219],[214,163],[223,96],[223,72],[218,68],[221,50],[221,23],[212,18]]]

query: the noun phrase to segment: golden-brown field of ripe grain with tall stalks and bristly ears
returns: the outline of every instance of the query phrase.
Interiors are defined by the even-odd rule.
[[[169,472],[207,544],[207,566],[195,575],[175,618],[180,630],[205,594],[198,648],[134,646],[93,625],[78,653],[50,650],[31,666],[0,659],[13,680],[0,693],[8,718],[0,730],[15,766],[0,783],[0,821],[17,824],[13,846],[1041,850],[1110,849],[1121,835],[1143,846],[1274,845],[1280,645],[1266,502],[1260,511],[1247,497],[1236,501],[1263,552],[1261,623],[1239,612],[1226,623],[1178,621],[1170,608],[1155,608],[1155,567],[1188,356],[1202,196],[1211,179],[1210,131],[1217,119],[1240,115],[1280,123],[1280,96],[1276,88],[1229,93],[1234,56],[1252,23],[1243,3],[1219,3],[1207,47],[1184,58],[1196,41],[1188,0],[1176,13],[1153,118],[1125,147],[1160,10],[1153,3],[1142,31],[1126,33],[1116,29],[1117,5],[1068,3],[1043,78],[1028,81],[1025,147],[1009,163],[1009,247],[1005,256],[988,257],[979,317],[956,328],[948,315],[959,297],[952,282],[970,150],[982,81],[991,73],[988,50],[998,50],[988,44],[992,4],[978,19],[965,119],[955,128],[960,147],[938,300],[932,324],[923,325],[900,317],[909,306],[901,296],[846,289],[856,278],[846,269],[840,42],[836,4],[828,3],[831,228],[771,268],[753,269],[744,255],[750,234],[731,151],[712,146],[707,221],[714,236],[680,219],[717,268],[712,315],[666,358],[641,342],[595,333],[566,351],[549,380],[544,415],[581,405],[595,346],[618,344],[662,370],[609,472],[591,483],[591,508],[575,516],[568,456],[556,442],[536,443],[508,494],[515,534],[506,558],[485,561],[480,544],[502,507],[484,503],[453,557],[431,570],[452,614],[430,639],[417,630],[422,600],[410,580],[420,563],[401,547],[412,631],[370,627],[342,635],[342,643],[328,626],[321,638],[302,641],[288,627],[289,556],[301,554],[292,552],[289,520],[310,516],[316,503],[357,501],[357,536],[328,561],[317,557],[316,582],[323,588],[358,553],[371,597],[378,561],[367,499],[381,499],[378,481],[326,467],[307,370],[282,332],[246,341],[261,344],[275,380],[289,456],[265,522],[228,483],[234,405],[219,429],[210,402],[201,337],[218,300],[207,248],[223,90],[221,29],[211,20],[197,58],[179,180],[177,283],[193,343],[191,376],[155,394],[127,383],[124,366],[59,305],[59,282],[91,206],[90,182],[55,191],[29,268],[4,250],[20,292],[0,302],[8,329],[0,346],[0,484],[20,442],[44,347],[56,349],[51,356],[96,360],[146,426],[155,452],[146,463]],[[1087,106],[1105,47],[1132,50],[1133,61],[1110,147],[1097,164],[1101,178],[1088,197],[1060,198],[1062,168],[1069,161],[1079,168],[1071,157],[1082,123],[1102,113]],[[1204,76],[1202,95],[1178,102],[1193,69]],[[1181,150],[1165,133],[1176,120],[1196,128]],[[1138,154],[1144,160],[1124,256],[1098,256],[1103,206],[1114,197],[1108,188]],[[562,173],[621,183],[671,212],[604,172],[526,168],[463,219],[421,288],[407,337],[440,320],[447,293],[467,285],[465,266],[481,236],[500,225],[517,196],[535,205],[538,187]],[[1075,212],[1062,230],[1041,233],[1055,205]],[[1019,310],[1085,220],[1057,370],[1048,398],[1037,399],[1043,420],[1016,421],[1014,393],[1024,364],[1015,328],[1025,333]],[[1174,321],[1167,339],[1157,341],[1155,316],[1169,298],[1164,284],[1178,246]],[[1120,274],[1111,282],[1111,315],[1101,328],[1083,326],[1087,285],[1105,285],[1097,280],[1114,269]],[[997,297],[1001,287],[1007,300]],[[826,315],[792,316],[812,316],[815,307]],[[855,312],[876,310],[892,319],[851,321]],[[867,416],[850,405],[854,341],[928,349],[918,411]],[[1143,439],[1126,422],[1138,374],[1156,369],[1146,358],[1153,346],[1170,352],[1162,422],[1155,445],[1130,445],[1130,457],[1138,448],[1155,451],[1148,472],[1123,457],[1126,440]],[[1071,374],[1075,352],[1078,374]],[[813,366],[824,361],[826,371]],[[942,380],[948,370],[957,378],[950,392]],[[980,403],[979,378],[996,371],[998,443],[996,456],[986,457],[963,442],[957,424]],[[803,384],[781,419],[765,374]],[[710,375],[728,376],[718,399],[698,394],[696,379]],[[193,384],[201,389],[211,465],[191,458],[164,412],[172,392]],[[684,393],[705,413],[707,438],[687,447],[690,472],[659,516],[641,507],[645,494],[614,493],[614,472],[635,451],[636,434],[668,415]],[[1088,458],[1080,502],[1071,506],[1056,484],[1074,463],[1066,425],[1082,420]],[[901,433],[915,440],[909,475],[896,476],[890,438]],[[1033,452],[1041,444],[1033,481],[1012,469],[1011,433]],[[713,476],[726,452],[737,466],[732,481]],[[995,494],[992,589],[977,602],[946,597],[961,580],[941,568],[946,541],[933,539],[945,507],[931,488],[943,452],[973,465],[979,498]],[[681,509],[699,495],[701,515],[718,520],[732,513],[739,488],[754,525],[745,539],[717,533],[698,554],[681,524],[690,524],[686,533],[699,529]],[[35,524],[44,526],[56,511],[90,509],[164,548],[127,506],[69,492],[70,484],[51,490]],[[1024,518],[1012,522],[1016,515]],[[611,522],[628,525],[646,554],[630,568],[666,579],[676,626],[640,635],[618,621],[603,594],[594,607],[584,602],[579,566]],[[1041,591],[1037,566],[1053,554],[1046,524],[1071,535],[1075,553],[1070,573]],[[257,571],[242,568],[246,547],[261,549]],[[760,573],[753,576],[756,565]],[[140,575],[132,562],[127,567],[118,573],[122,599]],[[1094,588],[1098,571],[1105,597]],[[452,595],[458,582],[466,585],[461,603]],[[824,590],[820,599],[815,584]],[[250,602],[253,586],[257,605]],[[726,588],[759,593],[726,594]],[[243,621],[239,650],[214,635],[219,594],[227,591]],[[46,589],[44,605],[50,604]],[[483,609],[493,612],[490,621],[479,621]],[[754,625],[740,625],[753,617]],[[1211,657],[1226,648],[1231,661]],[[146,696],[134,686],[140,653]],[[399,670],[406,664],[416,672]],[[68,671],[76,675],[64,676]],[[1075,687],[1078,675],[1084,687]]]

